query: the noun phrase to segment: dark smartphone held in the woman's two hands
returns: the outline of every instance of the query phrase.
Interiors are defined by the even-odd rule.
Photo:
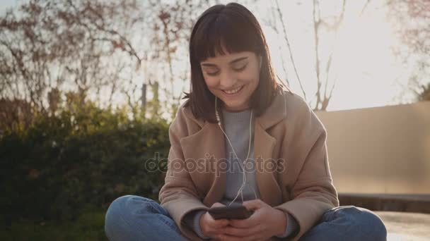
[[[214,219],[245,219],[249,218],[254,211],[250,211],[242,204],[231,204],[230,206],[216,206],[208,210]]]

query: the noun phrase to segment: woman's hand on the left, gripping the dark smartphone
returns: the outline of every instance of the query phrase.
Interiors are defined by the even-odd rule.
[[[219,202],[214,203],[211,207],[215,206],[226,206]],[[209,212],[206,212],[200,218],[200,228],[202,229],[203,235],[207,237],[213,237],[216,240],[218,236],[223,234],[223,229],[228,225],[228,219],[217,219],[212,218]]]

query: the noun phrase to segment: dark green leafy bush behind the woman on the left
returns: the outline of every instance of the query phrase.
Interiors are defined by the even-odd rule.
[[[6,223],[76,220],[89,206],[124,194],[158,199],[163,171],[145,163],[168,156],[168,123],[127,118],[91,103],[38,116],[26,130],[0,139],[0,205]]]

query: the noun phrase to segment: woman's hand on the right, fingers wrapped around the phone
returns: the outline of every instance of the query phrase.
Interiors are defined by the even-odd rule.
[[[246,219],[231,219],[223,230],[220,239],[225,241],[269,240],[274,235],[281,235],[286,228],[285,213],[274,209],[260,199],[243,202],[254,214]]]

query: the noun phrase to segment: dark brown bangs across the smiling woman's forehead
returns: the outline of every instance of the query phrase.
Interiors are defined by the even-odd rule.
[[[238,31],[239,30],[239,31]],[[213,14],[199,23],[190,42],[191,52],[198,62],[215,57],[216,54],[233,54],[241,51],[260,53],[261,33],[245,19],[234,14]],[[225,49],[223,49],[225,48]],[[227,51],[227,53],[225,52]]]

